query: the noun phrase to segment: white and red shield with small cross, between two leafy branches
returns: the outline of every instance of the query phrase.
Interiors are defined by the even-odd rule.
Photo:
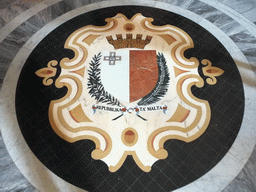
[[[156,50],[103,51],[102,58],[102,84],[121,101],[132,103],[148,95],[156,86]]]

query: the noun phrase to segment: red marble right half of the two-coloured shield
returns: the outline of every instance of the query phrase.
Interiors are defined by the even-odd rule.
[[[130,50],[130,102],[149,94],[158,80],[155,50]]]

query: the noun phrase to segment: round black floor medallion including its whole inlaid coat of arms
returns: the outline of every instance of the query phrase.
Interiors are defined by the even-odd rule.
[[[91,11],[53,30],[16,91],[30,149],[89,191],[171,191],[195,181],[228,152],[243,110],[224,46],[185,17],[142,6]]]

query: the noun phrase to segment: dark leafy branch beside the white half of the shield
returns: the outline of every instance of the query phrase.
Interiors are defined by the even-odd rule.
[[[87,84],[88,88],[90,89],[89,94],[91,97],[94,97],[101,103],[107,103],[108,105],[117,105],[121,107],[120,102],[104,89],[100,78],[100,59],[101,53],[94,55],[92,61],[89,63],[90,69],[88,70],[89,78]]]

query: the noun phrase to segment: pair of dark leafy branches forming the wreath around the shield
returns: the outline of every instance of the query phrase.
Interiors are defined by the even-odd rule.
[[[107,103],[109,105],[117,105],[121,107],[120,101],[114,96],[105,91],[104,86],[100,78],[100,59],[101,53],[94,55],[92,61],[89,63],[90,69],[88,70],[88,88],[89,94],[101,103]],[[145,97],[143,97],[137,104],[138,105],[150,105],[156,103],[163,97],[168,91],[169,86],[169,71],[166,65],[166,60],[162,53],[157,55],[158,64],[158,81],[155,88]]]

